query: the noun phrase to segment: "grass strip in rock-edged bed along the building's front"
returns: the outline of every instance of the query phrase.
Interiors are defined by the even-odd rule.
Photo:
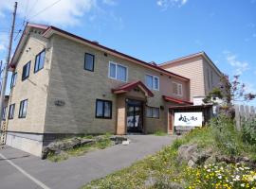
[[[83,136],[82,138],[93,139],[96,137],[98,137],[98,136],[88,135],[88,136]],[[64,139],[64,140],[68,140],[68,139]],[[51,162],[60,162],[60,161],[67,160],[70,157],[82,156],[89,151],[104,149],[104,148],[106,148],[108,146],[112,146],[112,145],[113,145],[113,143],[110,140],[110,134],[106,133],[105,135],[101,135],[101,140],[96,140],[95,143],[84,145],[84,146],[79,146],[79,147],[72,148],[72,149],[67,149],[58,155],[49,154],[47,159]]]

